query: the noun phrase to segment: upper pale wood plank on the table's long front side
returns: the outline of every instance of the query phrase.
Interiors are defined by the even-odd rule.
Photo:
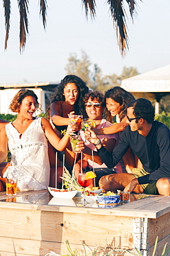
[[[105,219],[105,221],[103,221]],[[131,217],[41,212],[1,209],[0,236],[20,239],[74,243],[85,240],[89,245],[109,243],[123,248],[133,247],[133,219]],[[36,230],[36,232],[35,232]]]

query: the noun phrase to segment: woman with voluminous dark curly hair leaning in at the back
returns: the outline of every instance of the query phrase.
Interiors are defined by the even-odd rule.
[[[50,103],[50,117],[56,128],[56,134],[61,136],[67,128],[69,113],[84,115],[83,98],[88,91],[85,82],[76,75],[66,75],[61,80]]]

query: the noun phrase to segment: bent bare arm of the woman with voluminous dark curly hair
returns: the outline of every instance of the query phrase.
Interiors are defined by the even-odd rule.
[[[54,122],[55,125],[69,124],[69,118],[63,118],[61,116],[61,104],[59,101],[52,102],[52,104],[50,104],[50,113],[52,122]]]

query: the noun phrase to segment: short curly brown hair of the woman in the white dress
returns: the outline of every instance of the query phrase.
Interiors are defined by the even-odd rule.
[[[34,93],[34,91],[28,90],[28,89],[21,89],[20,91],[18,91],[17,94],[14,95],[14,98],[10,102],[9,109],[11,109],[12,112],[18,113],[19,110],[20,110],[23,99],[27,96],[32,96],[32,97],[35,98],[35,100],[36,100],[36,110],[41,109],[37,95]]]

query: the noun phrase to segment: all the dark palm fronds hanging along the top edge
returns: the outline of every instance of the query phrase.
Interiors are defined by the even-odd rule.
[[[14,0],[13,0],[14,1]],[[85,14],[88,17],[88,14],[92,19],[96,16],[96,0],[81,0],[83,6],[85,7]],[[142,0],[139,0],[142,1]],[[109,10],[111,12],[111,17],[113,19],[114,27],[116,28],[116,36],[118,40],[118,46],[120,48],[121,55],[125,55],[126,50],[128,49],[128,36],[127,36],[127,25],[126,25],[126,12],[125,4],[129,8],[131,19],[133,19],[136,0],[107,0],[109,5]],[[28,34],[28,5],[29,0],[18,0],[19,5],[19,39],[20,39],[20,51],[25,48],[26,37]],[[7,48],[9,31],[10,31],[10,6],[11,0],[3,0],[4,7],[4,16],[6,19],[6,39],[5,39],[5,49]],[[40,14],[43,17],[43,27],[46,26],[46,16],[47,16],[47,0],[39,0]]]

